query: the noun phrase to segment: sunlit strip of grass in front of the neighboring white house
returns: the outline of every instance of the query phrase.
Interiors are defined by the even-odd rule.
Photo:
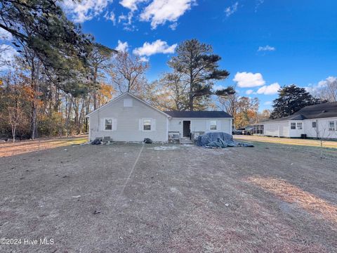
[[[320,147],[321,142],[315,139],[300,139],[300,138],[277,138],[268,136],[234,136],[238,141],[256,141],[263,143],[278,143],[284,145],[303,145],[308,147]],[[323,141],[324,148],[337,148],[337,141]]]

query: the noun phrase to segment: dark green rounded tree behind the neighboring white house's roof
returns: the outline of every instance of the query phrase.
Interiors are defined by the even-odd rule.
[[[273,111],[270,114],[271,119],[278,119],[293,115],[293,113],[304,108],[307,105],[315,105],[319,103],[317,98],[294,84],[284,86],[279,90],[279,97],[273,101]]]

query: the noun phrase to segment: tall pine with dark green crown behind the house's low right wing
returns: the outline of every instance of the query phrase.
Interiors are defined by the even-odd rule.
[[[180,82],[187,85],[188,110],[194,110],[195,102],[202,102],[213,94],[213,81],[229,76],[227,70],[219,70],[220,56],[213,54],[211,45],[197,39],[183,41],[176,48],[177,56],[169,60],[169,67],[180,74]]]

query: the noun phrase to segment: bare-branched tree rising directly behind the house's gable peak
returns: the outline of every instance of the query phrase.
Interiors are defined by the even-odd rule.
[[[110,77],[114,88],[119,93],[131,92],[140,95],[147,81],[145,72],[149,64],[138,56],[128,52],[119,52],[110,67]]]

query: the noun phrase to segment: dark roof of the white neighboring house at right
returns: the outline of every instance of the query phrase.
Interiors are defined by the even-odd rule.
[[[337,117],[337,102],[320,103],[317,105],[308,105],[300,109],[293,115],[272,119],[265,122],[279,122],[286,120],[303,120],[303,119],[322,119],[328,117]]]

